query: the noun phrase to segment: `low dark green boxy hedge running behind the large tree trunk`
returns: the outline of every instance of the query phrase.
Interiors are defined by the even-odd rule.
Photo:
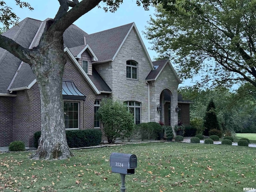
[[[34,146],[38,148],[41,132],[34,133]],[[102,132],[98,129],[66,130],[67,143],[70,148],[89,147],[101,143]]]

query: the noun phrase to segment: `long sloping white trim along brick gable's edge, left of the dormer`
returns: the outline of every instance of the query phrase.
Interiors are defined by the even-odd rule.
[[[93,84],[92,80],[90,80],[90,78],[88,77],[88,75],[86,74],[86,72],[84,72],[83,68],[80,66],[80,64],[78,63],[78,61],[76,60],[76,58],[74,57],[74,55],[71,53],[71,51],[69,50],[68,47],[64,48],[64,52],[66,52],[69,56],[69,58],[72,60],[72,62],[75,64],[76,68],[80,71],[80,73],[82,74],[82,76],[85,78],[85,80],[88,82],[88,84],[90,85],[90,87],[92,88],[92,90],[96,93],[96,94],[100,94],[100,91],[96,88],[96,86]]]

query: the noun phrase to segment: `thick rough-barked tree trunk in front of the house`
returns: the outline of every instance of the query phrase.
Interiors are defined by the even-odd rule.
[[[73,156],[66,141],[62,100],[66,57],[62,38],[53,38],[52,41],[55,42],[41,42],[44,48],[40,48],[31,66],[40,90],[42,119],[41,137],[37,151],[30,157],[32,159],[52,160]]]

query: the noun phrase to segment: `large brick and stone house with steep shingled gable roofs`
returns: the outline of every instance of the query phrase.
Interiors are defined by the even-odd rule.
[[[25,48],[38,45],[46,21],[25,18],[2,35]],[[96,111],[104,97],[125,102],[134,123],[189,124],[189,102],[169,60],[152,62],[134,23],[94,34],[75,25],[64,32],[62,81],[65,126],[100,129]],[[0,146],[22,140],[33,146],[41,128],[40,94],[30,66],[0,48]]]

